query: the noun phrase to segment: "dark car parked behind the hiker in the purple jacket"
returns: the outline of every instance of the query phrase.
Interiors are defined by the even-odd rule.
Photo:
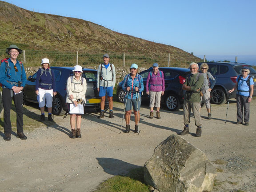
[[[143,77],[144,91],[142,100],[148,100],[149,97],[146,94],[146,82],[148,78],[148,72],[152,71],[152,67],[139,72]],[[179,110],[184,101],[182,85],[185,82],[186,76],[190,73],[188,68],[174,68],[174,67],[160,67],[160,71],[164,72],[165,91],[161,97],[161,102],[170,111]],[[124,103],[124,90],[122,89],[123,81],[121,81],[116,88],[116,95],[120,102]]]

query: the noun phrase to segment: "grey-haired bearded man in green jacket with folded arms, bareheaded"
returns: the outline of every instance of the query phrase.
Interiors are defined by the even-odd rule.
[[[195,117],[196,137],[200,137],[202,133],[202,124],[200,117],[200,88],[202,88],[204,83],[204,76],[200,75],[198,72],[198,64],[192,62],[189,65],[191,74],[186,77],[186,81],[182,86],[185,90],[183,111],[184,111],[184,130],[180,135],[189,134],[188,124],[190,123],[190,113],[191,109]]]

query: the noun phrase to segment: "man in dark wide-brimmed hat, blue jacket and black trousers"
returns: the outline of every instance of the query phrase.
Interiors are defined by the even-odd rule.
[[[17,136],[25,140],[27,137],[23,133],[23,94],[22,90],[26,84],[27,76],[23,64],[17,60],[22,50],[12,44],[6,48],[6,53],[10,58],[1,60],[0,83],[3,86],[2,98],[4,107],[4,140],[11,140],[12,124],[10,113],[12,99],[16,107]]]

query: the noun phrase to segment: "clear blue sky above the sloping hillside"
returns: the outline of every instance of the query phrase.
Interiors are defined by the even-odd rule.
[[[76,17],[113,31],[256,65],[256,0],[5,0],[30,11]]]

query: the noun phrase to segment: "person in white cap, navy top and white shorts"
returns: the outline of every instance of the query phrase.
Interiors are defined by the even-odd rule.
[[[36,74],[36,95],[39,103],[41,116],[39,121],[44,121],[44,106],[48,108],[48,121],[52,119],[52,96],[56,96],[55,76],[50,69],[50,62],[47,58],[42,59],[42,68]]]

